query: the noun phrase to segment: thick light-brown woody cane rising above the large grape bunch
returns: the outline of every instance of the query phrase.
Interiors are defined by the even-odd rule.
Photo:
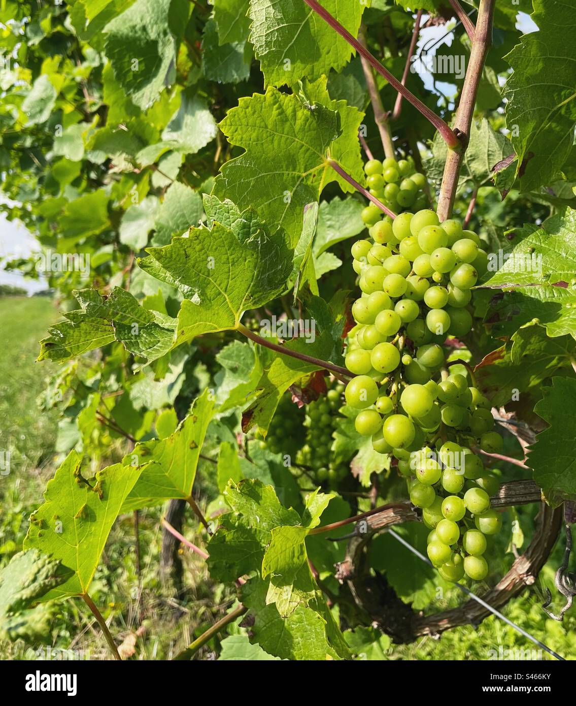
[[[476,96],[484,71],[484,61],[486,54],[492,43],[492,19],[494,17],[494,4],[496,0],[480,0],[478,8],[478,20],[472,41],[472,51],[470,60],[460,93],[460,103],[454,120],[454,131],[460,138],[460,149],[448,149],[446,155],[446,166],[442,177],[442,185],[438,197],[438,217],[440,221],[445,221],[452,215],[454,199],[458,189],[458,177],[462,168],[464,153],[470,139],[470,126],[474,116],[474,106]],[[451,147],[451,145],[448,145]]]

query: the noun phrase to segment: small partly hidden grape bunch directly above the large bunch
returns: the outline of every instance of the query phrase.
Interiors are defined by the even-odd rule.
[[[417,172],[412,157],[399,160],[386,157],[384,162],[369,160],[364,164],[368,189],[372,196],[384,203],[394,213],[406,208],[420,210],[429,205],[426,193],[427,179]],[[374,203],[369,203],[362,211],[362,220],[373,226],[384,214]]]

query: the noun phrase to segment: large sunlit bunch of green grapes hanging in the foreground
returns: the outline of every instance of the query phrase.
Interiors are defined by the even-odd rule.
[[[439,223],[431,210],[386,217],[369,233],[372,241],[352,246],[362,296],[352,307],[345,361],[355,377],[345,399],[358,410],[358,433],[410,479],[410,500],[432,530],[434,566],[448,580],[482,580],[484,534],[501,520],[489,501],[498,481],[472,448],[498,453],[503,439],[468,373],[448,370],[443,343],[470,332],[470,289],[487,255],[476,233]]]

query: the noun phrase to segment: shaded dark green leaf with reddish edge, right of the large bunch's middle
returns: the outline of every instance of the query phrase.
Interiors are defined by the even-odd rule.
[[[561,369],[570,369],[576,342],[568,336],[549,338],[534,323],[519,328],[510,341],[477,365],[480,388],[496,407],[517,400],[523,393],[538,393],[541,385]]]

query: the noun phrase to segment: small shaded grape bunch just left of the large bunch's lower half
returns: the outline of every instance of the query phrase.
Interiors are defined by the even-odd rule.
[[[300,465],[311,469],[315,481],[328,481],[331,486],[338,484],[350,472],[348,465],[334,460],[331,450],[332,433],[338,418],[336,412],[342,405],[343,392],[344,385],[332,381],[324,397],[307,405],[305,444],[296,457]]]

